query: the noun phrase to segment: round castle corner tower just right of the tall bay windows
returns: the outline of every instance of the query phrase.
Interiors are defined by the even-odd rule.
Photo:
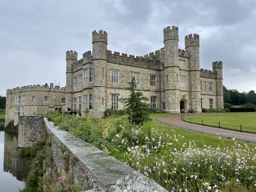
[[[93,66],[93,108],[96,115],[103,115],[107,100],[107,45],[108,34],[100,30],[99,33],[92,32],[92,66]]]

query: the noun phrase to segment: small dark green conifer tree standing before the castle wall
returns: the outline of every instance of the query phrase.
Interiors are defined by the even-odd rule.
[[[128,85],[129,87],[127,87],[126,89],[130,91],[129,97],[121,98],[118,100],[125,104],[125,112],[129,115],[128,119],[136,124],[140,124],[144,121],[150,121],[150,104],[146,103],[148,101],[148,98],[143,97],[142,92],[135,92],[137,88],[135,76],[132,78],[131,82],[128,83]]]

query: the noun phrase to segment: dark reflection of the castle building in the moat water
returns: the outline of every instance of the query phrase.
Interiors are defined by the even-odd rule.
[[[18,155],[18,133],[5,131],[4,138],[4,171],[23,181],[28,175],[29,159]]]

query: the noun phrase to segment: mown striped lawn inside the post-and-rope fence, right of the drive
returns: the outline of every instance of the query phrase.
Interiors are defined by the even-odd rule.
[[[218,114],[218,113],[217,113]],[[191,123],[210,125],[216,127],[223,127],[232,130],[241,130],[246,132],[256,133],[256,115],[250,114],[210,114],[209,115],[194,115],[185,116],[185,121]]]

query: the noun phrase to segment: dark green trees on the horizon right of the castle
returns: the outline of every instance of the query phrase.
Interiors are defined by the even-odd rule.
[[[256,105],[256,93],[254,90],[240,93],[236,89],[227,89],[223,86],[223,101],[231,105],[244,105],[246,103]]]

